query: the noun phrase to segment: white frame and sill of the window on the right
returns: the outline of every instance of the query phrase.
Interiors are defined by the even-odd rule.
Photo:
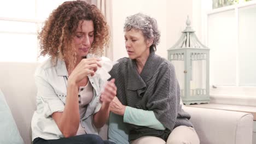
[[[234,5],[229,5],[226,7],[221,7],[221,8],[216,8],[216,9],[211,9],[209,11],[206,11],[206,17],[205,19],[202,19],[203,25],[205,26],[204,31],[204,36],[205,36],[205,43],[208,45],[208,16],[216,13],[222,13],[224,11],[229,11],[229,10],[235,10],[235,20],[236,20],[236,39],[237,43],[236,45],[236,86],[224,86],[224,85],[214,85],[213,83],[210,82],[210,96],[212,99],[218,99],[220,97],[225,97],[228,99],[232,98],[238,98],[238,99],[243,99],[244,101],[241,101],[239,103],[238,101],[221,101],[220,103],[226,103],[226,104],[243,104],[245,105],[245,101],[247,105],[254,105],[256,104],[250,103],[248,99],[255,99],[256,97],[256,86],[239,86],[239,47],[238,47],[238,40],[239,40],[239,35],[238,35],[238,9],[244,8],[244,7],[251,7],[253,5],[256,5],[256,1],[248,1],[248,2],[243,2],[239,4],[234,4]],[[211,77],[210,77],[211,79]],[[255,100],[254,100],[255,101]]]

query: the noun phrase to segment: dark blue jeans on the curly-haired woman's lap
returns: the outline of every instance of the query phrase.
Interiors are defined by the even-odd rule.
[[[115,144],[114,142],[104,141],[100,136],[94,134],[77,135],[68,138],[56,140],[44,140],[37,137],[33,140],[33,144]]]

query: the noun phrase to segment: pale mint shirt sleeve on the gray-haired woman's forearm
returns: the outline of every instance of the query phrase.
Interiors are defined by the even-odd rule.
[[[153,111],[146,111],[126,106],[124,122],[145,126],[153,129],[165,130],[164,125],[156,119]]]

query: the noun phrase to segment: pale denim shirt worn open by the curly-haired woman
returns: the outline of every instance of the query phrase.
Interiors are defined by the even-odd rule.
[[[88,55],[90,57],[90,55]],[[94,88],[91,102],[80,123],[87,134],[98,134],[92,124],[93,114],[101,107],[100,90],[103,82],[98,76],[88,76]],[[55,64],[51,58],[39,65],[35,73],[37,86],[37,110],[32,117],[32,140],[41,137],[45,140],[60,139],[64,137],[51,115],[54,112],[63,112],[67,96],[68,73],[65,62],[58,58]]]

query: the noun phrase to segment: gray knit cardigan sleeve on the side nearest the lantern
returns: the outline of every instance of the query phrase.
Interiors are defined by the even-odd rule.
[[[146,106],[148,110],[154,111],[155,117],[166,128],[172,130],[178,116],[180,90],[171,63],[162,65],[153,85],[155,91],[149,97]]]

